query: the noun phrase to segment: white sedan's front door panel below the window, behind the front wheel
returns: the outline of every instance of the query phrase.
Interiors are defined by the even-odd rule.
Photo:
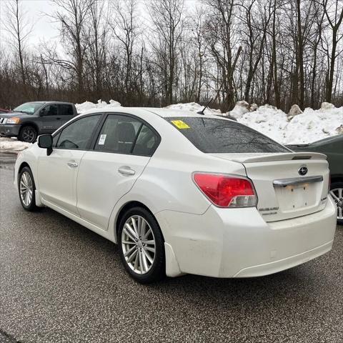
[[[38,179],[41,197],[79,215],[76,209],[76,177],[85,151],[54,149],[39,156]]]

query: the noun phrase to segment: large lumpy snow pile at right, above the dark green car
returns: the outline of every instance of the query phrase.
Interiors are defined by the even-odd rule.
[[[270,105],[259,106],[257,111],[239,115],[235,107],[232,112],[240,123],[282,144],[306,144],[318,141],[339,134],[339,127],[343,124],[343,107],[336,108],[327,103],[323,103],[321,109],[307,108],[290,121],[287,120],[284,111]]]

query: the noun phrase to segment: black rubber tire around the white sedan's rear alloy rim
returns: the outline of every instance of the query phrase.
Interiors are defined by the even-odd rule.
[[[146,274],[139,274],[137,272],[134,272],[134,269],[132,269],[132,267],[129,267],[129,263],[126,262],[126,257],[124,256],[125,244],[123,244],[122,239],[121,239],[124,225],[126,224],[126,221],[128,219],[135,216],[143,218],[146,221],[146,223],[149,224],[149,227],[152,231],[153,239],[155,242],[154,262],[151,264],[151,267],[149,271],[146,272]],[[118,244],[119,244],[119,254],[121,257],[121,262],[123,263],[124,268],[126,269],[126,272],[128,272],[129,275],[133,279],[135,279],[137,282],[141,284],[149,284],[151,282],[157,282],[165,277],[166,264],[165,264],[165,254],[164,254],[164,239],[161,233],[161,229],[159,228],[159,224],[156,222],[156,219],[149,211],[147,211],[143,207],[134,207],[132,209],[129,209],[124,214],[124,216],[121,217],[121,220],[119,222],[119,230],[118,230]],[[134,247],[134,243],[131,243],[130,247]],[[137,255],[139,254],[138,245],[136,246],[136,249],[137,249],[137,252],[136,252],[136,255]],[[142,251],[142,249],[140,249],[140,251]]]

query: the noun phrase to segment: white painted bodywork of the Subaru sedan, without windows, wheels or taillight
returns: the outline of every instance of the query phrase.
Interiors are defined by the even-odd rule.
[[[163,234],[169,277],[186,273],[257,277],[294,267],[332,249],[337,209],[328,196],[329,169],[324,155],[204,153],[165,117],[229,119],[170,109],[111,111],[134,115],[156,129],[161,141],[153,156],[71,149],[54,149],[47,156],[46,149],[34,144],[16,160],[16,187],[19,169],[29,165],[37,206],[50,207],[115,243],[121,209],[130,202],[143,204]],[[96,112],[104,110],[89,113]],[[301,189],[275,187],[275,180],[299,179],[303,165],[308,174]],[[119,173],[123,166],[134,169],[135,174]],[[194,172],[251,179],[257,207],[217,207],[192,180]],[[318,176],[321,182],[306,184]],[[303,193],[304,184],[308,189]]]

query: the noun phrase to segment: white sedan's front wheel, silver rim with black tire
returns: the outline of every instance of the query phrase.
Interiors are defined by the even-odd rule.
[[[36,185],[34,184],[34,176],[32,175],[31,169],[27,166],[19,172],[18,190],[21,206],[26,211],[36,211],[38,209],[36,207]]]

